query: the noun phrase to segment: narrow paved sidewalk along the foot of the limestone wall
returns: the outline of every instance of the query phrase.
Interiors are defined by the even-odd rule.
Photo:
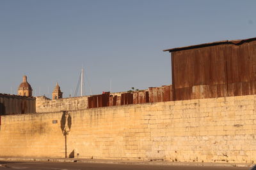
[[[0,157],[0,161],[36,161],[36,162],[84,162],[102,164],[152,164],[174,166],[218,166],[218,167],[252,167],[254,164],[232,163],[202,163],[202,162],[167,162],[167,161],[143,161],[143,160],[109,160],[109,159],[79,159],[79,158],[23,158],[23,157]]]

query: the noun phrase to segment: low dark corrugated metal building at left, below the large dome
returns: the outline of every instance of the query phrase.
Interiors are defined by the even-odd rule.
[[[36,113],[35,97],[0,94],[0,115]]]

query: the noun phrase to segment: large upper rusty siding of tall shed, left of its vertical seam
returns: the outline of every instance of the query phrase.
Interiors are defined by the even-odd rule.
[[[224,55],[218,46],[173,52],[175,89],[226,81]]]

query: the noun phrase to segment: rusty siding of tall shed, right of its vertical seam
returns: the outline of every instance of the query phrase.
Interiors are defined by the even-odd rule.
[[[228,96],[255,94],[256,41],[228,46],[225,52]]]

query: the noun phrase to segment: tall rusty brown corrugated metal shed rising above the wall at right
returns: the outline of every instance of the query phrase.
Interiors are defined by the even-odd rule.
[[[256,38],[166,51],[172,57],[173,100],[256,94]]]

